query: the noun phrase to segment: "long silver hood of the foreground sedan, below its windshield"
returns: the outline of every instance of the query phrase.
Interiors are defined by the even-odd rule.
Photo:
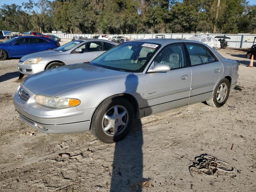
[[[126,77],[129,74],[132,73],[80,63],[34,74],[27,77],[22,84],[34,94],[55,96],[79,86]]]

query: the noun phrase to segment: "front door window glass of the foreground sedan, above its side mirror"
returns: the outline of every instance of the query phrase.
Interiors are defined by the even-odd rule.
[[[171,69],[186,66],[186,57],[182,44],[170,44],[164,47],[154,59],[155,65],[158,63],[167,64]]]

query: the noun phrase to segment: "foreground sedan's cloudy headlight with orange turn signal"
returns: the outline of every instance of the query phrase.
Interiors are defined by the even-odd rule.
[[[48,97],[43,95],[36,95],[35,101],[37,104],[50,108],[68,108],[78,106],[80,104],[79,99]]]

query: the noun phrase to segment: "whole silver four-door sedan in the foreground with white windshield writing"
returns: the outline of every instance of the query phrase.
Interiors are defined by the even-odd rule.
[[[134,118],[206,101],[221,107],[238,63],[196,41],[125,42],[90,64],[28,77],[14,95],[20,118],[46,133],[91,130],[103,142],[124,138]]]

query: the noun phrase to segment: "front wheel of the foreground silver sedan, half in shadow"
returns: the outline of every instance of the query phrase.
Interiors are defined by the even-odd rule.
[[[134,122],[132,104],[125,98],[108,98],[96,109],[91,124],[92,134],[104,143],[122,140]]]

